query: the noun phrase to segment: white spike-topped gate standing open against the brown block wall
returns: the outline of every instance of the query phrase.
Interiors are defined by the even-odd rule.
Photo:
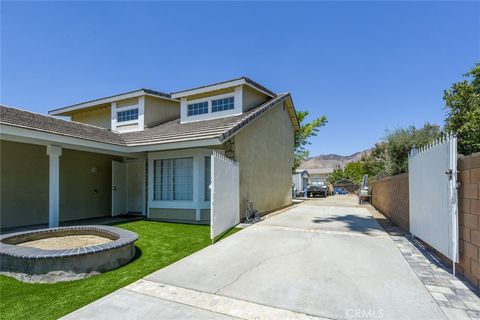
[[[457,138],[412,149],[408,182],[410,232],[458,262]]]

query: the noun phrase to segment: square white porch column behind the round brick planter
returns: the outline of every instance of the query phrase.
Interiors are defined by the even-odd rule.
[[[47,146],[47,155],[50,158],[49,170],[49,201],[48,201],[48,227],[56,228],[59,226],[59,192],[60,192],[60,156],[62,148],[57,146]]]

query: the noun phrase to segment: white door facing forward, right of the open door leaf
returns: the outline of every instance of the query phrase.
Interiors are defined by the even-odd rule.
[[[145,161],[127,163],[128,212],[145,214]]]

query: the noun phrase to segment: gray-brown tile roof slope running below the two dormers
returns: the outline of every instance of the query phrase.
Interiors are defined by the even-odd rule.
[[[180,119],[176,119],[152,128],[146,128],[143,131],[128,133],[116,133],[108,129],[61,120],[4,105],[0,105],[0,123],[123,146],[163,144],[209,138],[218,138],[220,142],[223,142],[289,96],[289,94],[277,95],[262,105],[237,116],[188,123],[180,123]]]

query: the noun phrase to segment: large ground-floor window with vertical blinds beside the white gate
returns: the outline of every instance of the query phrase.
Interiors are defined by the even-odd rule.
[[[154,200],[193,200],[193,158],[155,160]]]

